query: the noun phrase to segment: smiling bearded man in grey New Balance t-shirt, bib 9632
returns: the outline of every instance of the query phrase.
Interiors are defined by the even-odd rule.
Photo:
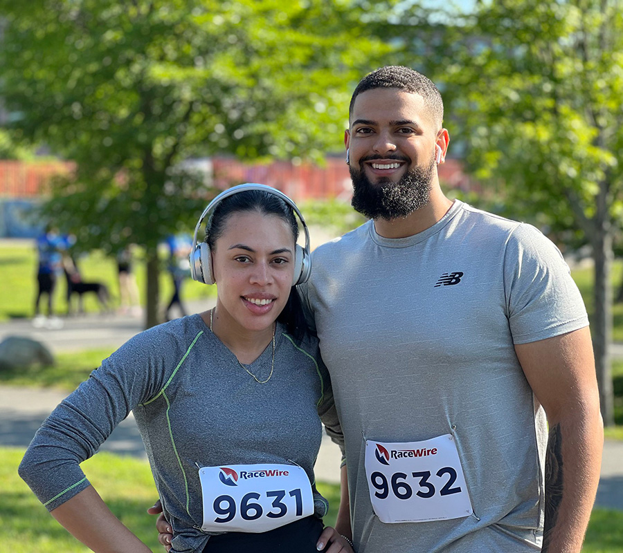
[[[603,441],[586,310],[534,227],[444,196],[442,119],[415,71],[359,83],[345,145],[371,221],[314,252],[304,290],[354,549],[579,552]]]

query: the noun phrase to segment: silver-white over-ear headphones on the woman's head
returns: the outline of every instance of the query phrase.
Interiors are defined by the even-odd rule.
[[[192,250],[190,252],[190,276],[192,279],[205,284],[215,283],[214,272],[212,270],[212,255],[210,252],[210,246],[206,241],[197,243],[197,233],[199,232],[199,227],[204,219],[209,220],[210,215],[213,214],[217,205],[219,205],[222,200],[228,198],[229,196],[233,196],[234,194],[240,194],[240,192],[251,190],[264,191],[274,194],[278,198],[285,201],[285,203],[287,203],[287,205],[289,205],[298,216],[301,224],[303,225],[303,232],[305,232],[305,248],[300,247],[298,244],[294,246],[294,279],[292,280],[292,285],[295,286],[297,284],[304,283],[307,279],[309,279],[309,273],[311,272],[311,253],[309,245],[309,231],[307,230],[307,225],[305,225],[303,215],[298,210],[298,207],[296,207],[296,204],[282,191],[267,185],[257,185],[253,182],[248,182],[244,185],[237,185],[221,192],[221,194],[216,196],[216,198],[208,204],[208,207],[204,209],[204,212],[201,214],[201,217],[199,217],[199,221],[195,227],[195,236],[192,238]]]

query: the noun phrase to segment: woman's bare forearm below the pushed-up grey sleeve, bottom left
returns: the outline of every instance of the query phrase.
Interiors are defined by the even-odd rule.
[[[151,550],[112,514],[93,486],[53,509],[51,515],[96,553],[151,553]]]

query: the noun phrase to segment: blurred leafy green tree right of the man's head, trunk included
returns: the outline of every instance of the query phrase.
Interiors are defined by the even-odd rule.
[[[623,209],[620,2],[477,2],[451,27],[435,59],[454,91],[451,109],[471,171],[514,216],[591,247],[597,379],[604,422],[613,424],[610,277]]]

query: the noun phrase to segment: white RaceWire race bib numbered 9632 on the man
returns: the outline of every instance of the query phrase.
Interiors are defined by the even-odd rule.
[[[472,514],[453,435],[424,442],[365,440],[365,476],[383,523],[419,523]]]

